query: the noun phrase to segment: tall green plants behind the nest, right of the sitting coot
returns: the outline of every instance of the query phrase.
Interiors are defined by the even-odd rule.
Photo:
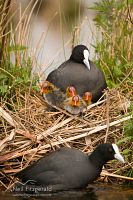
[[[102,32],[102,39],[95,46],[97,64],[104,71],[108,86],[116,87],[123,80],[133,86],[133,0],[103,0],[93,9],[98,12],[94,20]]]

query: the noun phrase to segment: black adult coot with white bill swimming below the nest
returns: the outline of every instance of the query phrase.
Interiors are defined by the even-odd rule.
[[[32,180],[36,186],[50,187],[52,191],[79,189],[97,179],[103,165],[115,158],[124,163],[116,144],[100,144],[89,156],[78,149],[64,147],[22,170],[17,176],[23,183]]]

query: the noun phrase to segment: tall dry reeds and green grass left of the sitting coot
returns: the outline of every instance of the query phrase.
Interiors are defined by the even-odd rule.
[[[1,102],[8,101],[9,98],[15,95],[16,91],[24,93],[24,91],[29,89],[29,87],[34,87],[36,82],[36,77],[33,78],[31,75],[33,61],[29,56],[29,48],[26,44],[29,35],[24,35],[28,29],[30,18],[25,19],[23,17],[23,20],[25,20],[25,26],[22,27],[22,24],[19,23],[22,19],[20,16],[16,30],[9,14],[9,5],[10,7],[12,6],[10,0],[0,2]],[[8,21],[6,26],[5,19]],[[21,38],[24,38],[23,42]]]

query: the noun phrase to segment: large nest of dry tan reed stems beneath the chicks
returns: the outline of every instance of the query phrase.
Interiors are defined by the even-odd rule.
[[[73,116],[60,108],[48,112],[47,103],[35,92],[17,93],[15,101],[13,98],[0,107],[0,178],[5,189],[14,182],[16,172],[57,148],[74,147],[90,153],[99,143],[119,141],[123,123],[132,118],[129,101],[115,89],[106,91],[105,99],[90,105],[83,116]],[[133,149],[127,142],[120,146],[121,151],[126,146]],[[132,164],[112,162],[106,165],[104,176],[123,178],[121,175]]]

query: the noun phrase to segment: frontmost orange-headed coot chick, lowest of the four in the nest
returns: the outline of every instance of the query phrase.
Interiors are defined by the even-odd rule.
[[[80,96],[75,95],[68,98],[66,97],[63,102],[63,108],[73,115],[78,115],[86,108],[86,103]]]

